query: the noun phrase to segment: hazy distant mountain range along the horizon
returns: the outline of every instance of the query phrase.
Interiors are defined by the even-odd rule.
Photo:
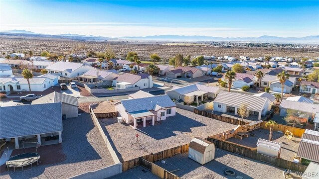
[[[87,41],[105,41],[105,40],[148,40],[148,41],[215,41],[215,42],[272,42],[272,43],[311,43],[319,44],[319,35],[306,36],[306,37],[277,37],[277,36],[260,36],[260,37],[212,37],[203,35],[153,35],[153,36],[140,36],[140,37],[120,37],[109,38],[94,35],[79,35],[79,34],[60,34],[49,35],[40,34],[26,30],[6,30],[1,31],[0,35],[15,35],[19,36],[39,36],[51,38],[66,38],[74,40],[87,40]]]

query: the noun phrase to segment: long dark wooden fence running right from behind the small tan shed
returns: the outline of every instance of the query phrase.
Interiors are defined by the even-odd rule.
[[[218,147],[222,150],[236,153],[244,157],[262,161],[271,165],[275,165],[283,169],[290,169],[297,172],[305,172],[307,168],[307,166],[304,166],[302,164],[296,164],[294,162],[287,161],[285,159],[274,158],[274,157],[263,155],[257,152],[257,148],[249,148],[239,144],[234,144],[232,142],[222,141],[222,140],[213,139],[213,138],[208,138],[207,140],[214,143],[215,147]]]

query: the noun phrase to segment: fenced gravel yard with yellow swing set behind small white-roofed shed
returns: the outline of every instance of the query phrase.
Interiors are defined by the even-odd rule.
[[[269,140],[269,130],[266,129],[257,129],[254,131],[248,132],[248,134],[254,133],[256,136],[249,136],[248,138],[243,138],[242,140],[237,139],[235,137],[228,139],[227,141],[234,142],[240,145],[248,146],[248,147],[257,147],[257,141],[259,138]],[[301,138],[295,137],[295,141],[288,141],[288,139],[284,136],[283,133],[274,132],[273,133],[273,141],[281,144],[281,153],[280,158],[293,161],[294,155],[297,153],[299,148],[299,142]]]

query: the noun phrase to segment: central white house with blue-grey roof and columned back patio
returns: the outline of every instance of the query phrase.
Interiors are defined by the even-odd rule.
[[[155,125],[155,122],[165,120],[166,117],[175,116],[176,104],[167,95],[124,99],[115,108],[119,111],[123,121],[146,127],[146,122]],[[150,122],[151,121],[151,122]]]

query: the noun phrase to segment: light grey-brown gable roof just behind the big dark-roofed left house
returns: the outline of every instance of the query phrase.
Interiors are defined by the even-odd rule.
[[[38,99],[35,99],[32,101],[32,104],[43,104],[43,103],[56,103],[56,102],[62,102],[74,106],[79,106],[78,103],[78,98],[67,95],[67,94],[62,94],[60,92],[51,92],[50,94],[47,94],[43,97],[40,97]]]

